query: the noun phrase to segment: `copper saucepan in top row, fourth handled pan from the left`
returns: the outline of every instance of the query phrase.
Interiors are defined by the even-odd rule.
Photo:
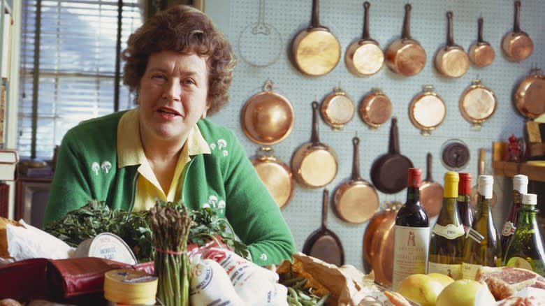
[[[452,12],[446,12],[448,29],[446,31],[446,45],[435,54],[435,68],[449,78],[460,78],[470,68],[470,59],[460,45],[454,43],[452,29]]]

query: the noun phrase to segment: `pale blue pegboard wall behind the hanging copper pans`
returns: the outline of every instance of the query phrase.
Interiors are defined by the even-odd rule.
[[[260,3],[264,9],[260,10]],[[383,50],[398,39],[402,31],[407,1],[371,0],[370,36]],[[502,37],[513,29],[513,0],[414,0],[411,13],[411,34],[426,50],[427,60],[423,70],[412,77],[393,73],[386,64],[375,75],[358,78],[349,73],[344,64],[344,52],[348,46],[361,38],[363,29],[363,1],[321,0],[319,1],[319,21],[328,27],[342,48],[342,58],[326,75],[310,77],[300,73],[289,60],[291,41],[311,22],[312,0],[207,0],[205,11],[230,39],[238,66],[231,87],[231,102],[211,119],[227,126],[237,133],[245,146],[249,158],[256,156],[259,145],[245,136],[240,124],[240,112],[247,99],[263,90],[270,79],[275,92],[282,94],[293,105],[295,124],[289,137],[273,145],[275,156],[290,163],[296,148],[310,140],[312,123],[312,101],[321,101],[334,87],[342,90],[358,107],[363,96],[373,87],[379,87],[391,99],[392,116],[398,118],[400,152],[409,157],[414,166],[426,171],[426,154],[433,154],[433,179],[443,183],[447,169],[439,156],[448,140],[462,140],[470,148],[470,161],[463,171],[477,177],[477,158],[479,148],[486,149],[486,173],[492,174],[491,151],[494,141],[507,142],[514,134],[523,136],[525,118],[514,107],[512,99],[514,88],[530,73],[532,66],[545,68],[545,3],[542,0],[523,0],[521,5],[521,29],[530,35],[534,42],[532,55],[520,63],[509,61],[502,53]],[[490,66],[476,68],[461,78],[446,78],[440,75],[433,64],[435,52],[446,43],[446,11],[453,12],[453,33],[456,44],[466,51],[477,41],[477,19],[484,18],[484,40],[495,49],[495,60]],[[246,31],[252,24],[261,20],[273,29],[270,37],[252,35]],[[472,129],[471,124],[462,117],[458,109],[460,94],[479,78],[483,85],[493,90],[497,96],[497,109],[480,130]],[[412,124],[408,115],[409,103],[422,91],[423,85],[433,85],[434,90],[446,103],[444,122],[432,131],[430,136],[422,136]],[[319,119],[319,138],[333,148],[338,158],[338,172],[335,180],[326,186],[330,194],[351,177],[352,138],[361,139],[359,145],[361,176],[370,181],[372,162],[388,150],[388,135],[391,123],[371,130],[356,112],[354,118],[341,131],[333,131],[323,119]],[[510,181],[505,177],[495,177],[495,192],[500,199],[493,210],[496,222],[503,222],[509,203]],[[293,198],[284,206],[282,212],[291,227],[298,250],[307,237],[321,226],[321,201],[323,189],[305,189],[297,185]],[[505,194],[505,199],[503,199]],[[398,194],[382,194],[381,202],[405,202],[406,190]],[[543,201],[543,200],[542,200]],[[331,203],[332,201],[330,201]],[[435,219],[432,219],[432,225]],[[348,224],[335,215],[332,205],[328,212],[328,228],[342,241],[345,261],[363,268],[362,241],[364,224]]]

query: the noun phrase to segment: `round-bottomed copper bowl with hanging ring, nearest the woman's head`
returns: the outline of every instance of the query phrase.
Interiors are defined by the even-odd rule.
[[[273,82],[268,80],[263,92],[246,101],[240,113],[240,123],[249,140],[259,145],[274,145],[289,136],[294,117],[291,103],[273,92]]]

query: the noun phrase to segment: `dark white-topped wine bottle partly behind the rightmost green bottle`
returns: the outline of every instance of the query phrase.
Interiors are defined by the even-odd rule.
[[[509,241],[513,238],[513,234],[516,230],[516,224],[518,223],[518,210],[521,208],[522,194],[528,194],[528,177],[526,175],[518,174],[513,177],[513,203],[511,204],[511,211],[507,217],[507,221],[502,228],[502,249],[507,250]]]

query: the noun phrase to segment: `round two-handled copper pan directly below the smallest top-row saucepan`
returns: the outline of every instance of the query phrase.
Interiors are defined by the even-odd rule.
[[[497,108],[497,98],[492,89],[482,85],[481,80],[473,80],[460,96],[460,112],[474,129],[481,129],[481,124],[488,120]]]

